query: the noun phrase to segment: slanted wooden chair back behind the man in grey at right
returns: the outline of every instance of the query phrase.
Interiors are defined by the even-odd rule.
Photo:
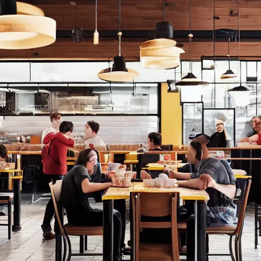
[[[243,193],[241,194],[241,199],[239,200],[238,204],[238,225],[236,230],[234,231],[234,234],[238,234],[241,232],[243,229],[243,223],[244,223],[244,218],[245,218],[245,213],[246,213],[246,207],[247,207],[247,200],[248,200],[248,195],[251,187],[251,179],[247,180],[247,185],[243,190]]]

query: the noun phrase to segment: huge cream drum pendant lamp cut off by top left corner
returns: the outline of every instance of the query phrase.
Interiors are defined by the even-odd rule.
[[[0,49],[31,49],[56,40],[56,21],[30,4],[15,0],[0,3]]]

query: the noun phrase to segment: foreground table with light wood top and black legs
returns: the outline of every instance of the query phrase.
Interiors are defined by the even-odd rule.
[[[179,197],[184,200],[195,201],[195,238],[197,235],[197,222],[198,216],[206,216],[206,204],[204,208],[199,208],[203,213],[198,213],[197,201],[203,201],[206,203],[209,200],[209,196],[205,191],[193,190],[187,188],[175,187],[172,189],[158,189],[148,188],[143,182],[133,182],[130,188],[113,188],[110,187],[102,196],[103,202],[103,261],[113,261],[113,200],[114,199],[129,199],[131,192],[153,192],[153,193],[171,193],[179,192]],[[206,220],[205,220],[206,221]],[[203,222],[202,222],[203,223]],[[206,227],[206,222],[201,224],[202,227]],[[199,242],[205,242],[205,239]],[[195,261],[203,261],[201,258],[197,258],[197,252],[200,251],[200,256],[205,256],[205,244],[197,245],[195,241]]]

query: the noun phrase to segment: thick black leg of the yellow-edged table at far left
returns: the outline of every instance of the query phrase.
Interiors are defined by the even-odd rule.
[[[21,230],[21,191],[20,191],[20,179],[13,179],[13,191],[14,191],[14,224],[12,226],[13,232]]]

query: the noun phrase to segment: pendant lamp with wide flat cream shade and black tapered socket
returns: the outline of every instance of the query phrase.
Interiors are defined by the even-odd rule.
[[[101,70],[97,76],[99,79],[107,82],[133,82],[134,77],[140,76],[140,74],[134,69],[127,69],[125,64],[125,58],[121,56],[121,36],[120,31],[120,0],[119,0],[119,33],[118,33],[118,56],[113,58],[113,67]]]

